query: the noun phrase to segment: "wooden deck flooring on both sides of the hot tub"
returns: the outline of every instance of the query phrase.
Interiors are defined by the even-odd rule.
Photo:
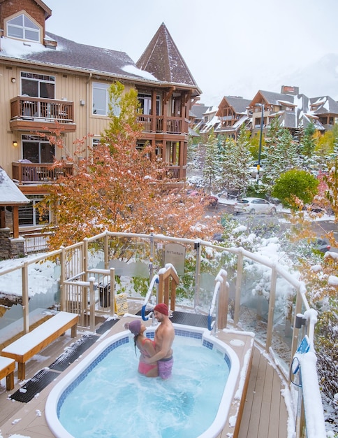
[[[112,327],[112,332],[115,332],[115,330],[121,329]],[[78,338],[80,336],[81,333],[78,333]],[[34,376],[39,369],[48,366],[52,358],[57,358],[64,351],[64,348],[73,342],[74,339],[66,334],[66,336],[57,339],[45,348],[36,360],[29,360],[27,365],[28,377]],[[45,400],[54,384],[55,382],[50,383],[50,386],[47,386],[38,397],[29,403],[8,400],[6,388],[0,388],[0,430],[3,437],[15,433],[30,438],[53,437],[45,422],[44,409]],[[18,388],[20,388],[20,384],[16,383],[15,390]],[[270,365],[260,349],[254,347],[239,438],[287,437],[288,416],[284,397],[281,395],[281,389],[283,388],[284,384],[277,371]],[[234,428],[232,430],[234,432]],[[229,436],[226,430],[219,435],[221,438],[228,438]]]

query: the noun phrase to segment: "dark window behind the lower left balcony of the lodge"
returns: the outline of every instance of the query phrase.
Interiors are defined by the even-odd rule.
[[[55,157],[55,146],[47,137],[36,135],[22,136],[22,158],[32,163],[52,163]]]

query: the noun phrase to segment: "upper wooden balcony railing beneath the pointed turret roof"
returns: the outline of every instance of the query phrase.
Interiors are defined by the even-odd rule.
[[[154,120],[155,117],[155,120]],[[138,122],[144,132],[168,132],[168,134],[184,134],[188,132],[188,122],[180,117],[164,117],[163,115],[138,115]]]

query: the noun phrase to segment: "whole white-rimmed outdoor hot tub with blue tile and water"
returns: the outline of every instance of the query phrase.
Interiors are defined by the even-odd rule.
[[[205,329],[174,325],[168,380],[138,374],[133,335],[98,346],[54,386],[47,423],[57,438],[212,438],[224,427],[240,372],[232,348]],[[154,328],[145,335],[154,337]]]

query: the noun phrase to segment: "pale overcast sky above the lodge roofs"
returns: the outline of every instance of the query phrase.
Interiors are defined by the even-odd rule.
[[[47,31],[77,43],[122,50],[134,62],[164,22],[206,105],[218,105],[228,94],[252,99],[258,90],[299,86],[270,88],[277,77],[338,53],[338,0],[45,3],[52,9]]]

